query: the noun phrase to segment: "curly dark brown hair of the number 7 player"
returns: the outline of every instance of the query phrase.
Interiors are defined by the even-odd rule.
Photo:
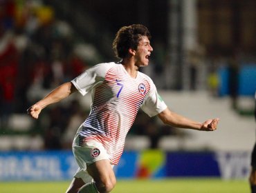
[[[136,50],[142,36],[146,36],[148,39],[151,38],[149,30],[143,25],[133,24],[120,28],[112,44],[116,57],[120,59],[127,57],[129,48]]]

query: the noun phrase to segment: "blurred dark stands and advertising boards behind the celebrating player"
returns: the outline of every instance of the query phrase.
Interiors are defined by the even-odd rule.
[[[194,132],[139,112],[115,167],[118,179],[217,178],[242,181],[244,189],[230,185],[228,191],[248,192],[255,8],[253,0],[1,0],[0,187],[72,179],[77,165],[71,143],[89,113],[89,94],[46,108],[37,121],[26,109],[86,68],[116,61],[111,43],[117,30],[142,23],[152,33],[154,52],[141,70],[167,105],[198,121],[221,121],[216,132]],[[162,192],[171,192],[167,188]]]

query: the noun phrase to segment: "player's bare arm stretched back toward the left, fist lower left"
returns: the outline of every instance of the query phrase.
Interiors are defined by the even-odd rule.
[[[34,119],[38,119],[38,116],[40,112],[46,108],[46,106],[57,103],[58,101],[61,101],[62,99],[65,99],[67,96],[72,94],[76,91],[75,86],[71,82],[64,83],[60,85],[59,87],[55,88],[52,92],[47,94],[44,99],[38,101],[34,105],[32,105],[30,108],[28,108],[27,112],[30,116],[32,116]]]

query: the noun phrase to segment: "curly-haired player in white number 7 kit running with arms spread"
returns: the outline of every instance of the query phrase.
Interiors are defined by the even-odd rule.
[[[111,192],[116,185],[113,165],[118,164],[125,137],[142,109],[177,128],[213,131],[219,119],[203,123],[170,111],[158,95],[152,79],[139,72],[149,64],[153,48],[150,34],[140,24],[124,26],[116,34],[113,50],[119,63],[100,63],[71,82],[64,83],[38,101],[28,114],[37,119],[46,106],[61,101],[73,92],[91,91],[91,112],[75,134],[73,154],[79,165],[66,192]]]

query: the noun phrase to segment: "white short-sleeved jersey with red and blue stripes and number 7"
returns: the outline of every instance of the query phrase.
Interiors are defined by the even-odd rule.
[[[91,112],[78,130],[79,145],[95,140],[106,148],[110,161],[117,164],[125,137],[141,108],[155,116],[167,108],[156,86],[146,74],[130,77],[120,63],[100,63],[71,81],[86,94],[91,91]]]

